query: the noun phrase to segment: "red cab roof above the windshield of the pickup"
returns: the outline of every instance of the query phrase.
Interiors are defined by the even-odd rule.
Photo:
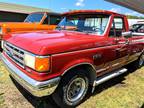
[[[112,12],[112,11],[107,11],[107,10],[74,10],[74,11],[70,11],[70,12],[65,12],[62,15],[66,16],[66,15],[75,15],[75,14],[94,14],[94,13],[103,13],[103,14],[117,14],[117,15],[121,15],[121,16],[125,16],[122,14],[118,14],[116,12]]]

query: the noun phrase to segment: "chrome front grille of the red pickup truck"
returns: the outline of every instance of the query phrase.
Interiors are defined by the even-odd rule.
[[[13,62],[24,68],[24,51],[7,42],[4,43],[4,51]]]

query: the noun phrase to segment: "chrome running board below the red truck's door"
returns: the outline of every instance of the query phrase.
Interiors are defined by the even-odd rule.
[[[121,75],[121,74],[123,74],[123,73],[125,73],[127,71],[128,70],[126,68],[121,68],[121,69],[118,69],[118,70],[116,70],[116,71],[114,71],[114,72],[112,72],[110,74],[107,74],[107,75],[105,75],[103,77],[98,78],[97,80],[94,81],[92,93],[95,90],[95,86],[97,86],[99,84],[102,84],[102,83],[104,83],[104,82],[106,82],[106,81],[108,81],[108,80],[110,80],[110,79],[112,79],[114,77],[117,77],[117,76],[119,76],[119,75]]]

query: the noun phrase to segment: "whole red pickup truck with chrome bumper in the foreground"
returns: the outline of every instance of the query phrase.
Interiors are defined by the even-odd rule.
[[[37,97],[52,95],[62,108],[82,102],[94,88],[144,64],[144,38],[132,36],[124,15],[80,10],[54,31],[13,33],[2,41],[1,59],[10,75]],[[9,36],[8,36],[9,37]]]

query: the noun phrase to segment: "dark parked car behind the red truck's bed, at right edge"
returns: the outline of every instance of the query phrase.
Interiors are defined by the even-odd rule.
[[[144,22],[138,22],[137,24],[134,24],[131,26],[130,29],[134,35],[141,35],[144,36]]]

